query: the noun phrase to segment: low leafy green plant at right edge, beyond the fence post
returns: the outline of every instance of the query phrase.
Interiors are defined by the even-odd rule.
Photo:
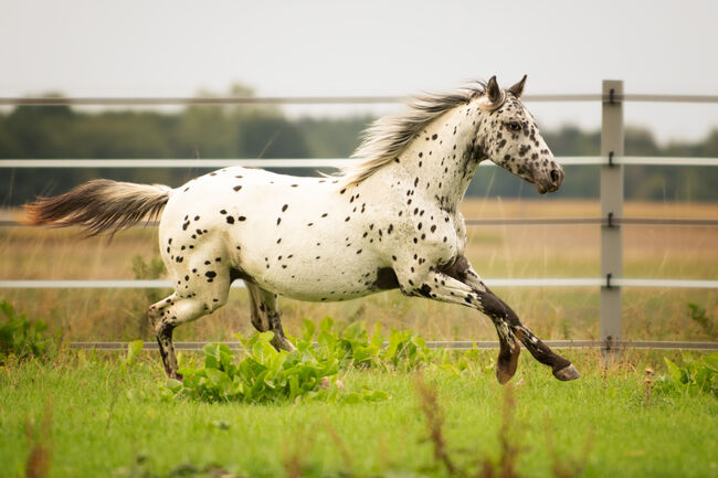
[[[700,360],[687,359],[683,367],[664,358],[668,368],[667,376],[658,378],[658,387],[664,392],[712,393],[718,396],[718,352]]]

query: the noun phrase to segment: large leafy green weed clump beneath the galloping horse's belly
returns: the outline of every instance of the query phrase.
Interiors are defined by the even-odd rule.
[[[202,351],[203,367],[180,368],[183,380],[169,380],[162,389],[163,396],[245,403],[380,401],[387,399],[382,391],[346,391],[336,380],[339,369],[413,370],[431,363],[434,357],[424,339],[411,330],[392,330],[386,341],[378,325],[371,337],[365,322],[353,322],[341,332],[332,328],[329,317],[321,320],[318,329],[305,320],[300,338],[294,341],[297,349],[292,352],[275,350],[272,332],[256,333],[250,339],[237,336],[245,354],[239,362],[229,346],[208,344]]]

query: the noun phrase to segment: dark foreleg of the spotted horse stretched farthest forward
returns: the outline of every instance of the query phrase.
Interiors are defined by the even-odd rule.
[[[536,360],[551,367],[553,376],[562,381],[574,380],[579,378],[579,372],[570,361],[559,355],[558,353],[555,353],[546,343],[539,340],[539,338],[536,337],[534,332],[531,332],[526,326],[521,323],[516,312],[514,312],[509,306],[507,306],[501,299],[492,293],[488,287],[484,285],[484,283],[481,280],[481,277],[472,268],[466,257],[460,257],[451,267],[445,270],[445,273],[469,286],[479,302],[479,310],[492,318],[497,327],[497,330],[499,330],[499,323],[508,325],[514,334],[518,337],[521,343],[524,343],[524,346],[528,349],[528,351],[531,353],[531,355],[534,355]],[[499,331],[499,338],[500,336],[501,332]],[[499,353],[499,368],[501,365],[504,347],[501,346],[501,353]],[[516,352],[516,358],[518,358],[518,352]],[[510,372],[510,375],[513,375],[515,371],[516,367],[514,364],[513,370],[507,369],[505,372]],[[510,379],[510,375],[508,379]],[[500,380],[501,376],[499,373],[499,381]]]

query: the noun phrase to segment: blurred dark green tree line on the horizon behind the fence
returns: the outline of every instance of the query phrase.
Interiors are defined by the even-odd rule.
[[[0,159],[346,158],[359,145],[370,116],[288,118],[278,108],[190,106],[162,113],[86,111],[66,106],[19,106],[0,113]],[[566,126],[543,131],[557,156],[595,156],[600,131]],[[650,131],[627,128],[625,152],[635,156],[718,157],[718,129],[697,142],[659,146]],[[63,192],[93,178],[178,187],[209,169],[24,169],[0,170],[1,205]],[[552,198],[595,198],[598,167],[567,167]],[[277,172],[315,174],[307,169]],[[326,172],[331,172],[330,170]],[[718,168],[632,166],[625,169],[627,199],[718,200]],[[481,169],[467,195],[532,198],[536,190],[500,168]]]

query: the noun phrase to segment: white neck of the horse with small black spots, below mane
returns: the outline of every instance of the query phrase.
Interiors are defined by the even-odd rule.
[[[456,211],[481,160],[476,131],[481,111],[475,105],[452,109],[432,121],[399,157],[394,167],[409,181],[411,194]]]

